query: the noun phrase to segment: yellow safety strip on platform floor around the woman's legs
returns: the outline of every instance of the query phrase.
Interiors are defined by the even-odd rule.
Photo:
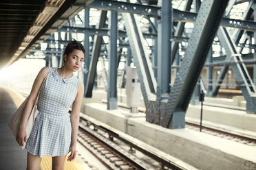
[[[77,162],[76,159],[70,161],[67,161],[68,156],[65,160],[65,170],[83,170],[83,167]],[[50,170],[52,169],[52,157],[51,156],[43,156],[41,160],[40,167],[42,170]]]

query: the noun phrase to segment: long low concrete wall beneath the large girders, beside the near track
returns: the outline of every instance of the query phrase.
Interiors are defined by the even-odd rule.
[[[145,121],[127,118],[122,110],[107,110],[104,104],[85,104],[85,114],[171,154],[198,169],[256,169],[256,147],[249,147],[223,138],[200,134],[193,130],[169,130]],[[218,146],[215,141],[220,142]],[[232,147],[238,151],[232,151]],[[226,149],[225,149],[226,147]],[[239,154],[242,151],[242,154]],[[248,151],[244,153],[243,151]],[[250,153],[249,153],[250,152]],[[254,155],[254,156],[253,156]]]

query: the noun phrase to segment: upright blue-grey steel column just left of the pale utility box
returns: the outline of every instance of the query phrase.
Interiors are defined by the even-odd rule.
[[[117,109],[117,12],[111,11],[110,13],[110,36],[109,36],[109,73],[107,76],[107,109]]]

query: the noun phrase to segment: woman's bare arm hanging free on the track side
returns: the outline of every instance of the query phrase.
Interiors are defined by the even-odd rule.
[[[83,93],[84,93],[84,86],[83,86],[83,83],[79,81],[76,99],[73,102],[72,112],[70,115],[71,126],[72,126],[72,144],[71,144],[71,154],[67,159],[70,161],[76,158],[76,141],[77,141],[77,134],[78,134],[78,126],[79,126],[80,108],[83,101]]]

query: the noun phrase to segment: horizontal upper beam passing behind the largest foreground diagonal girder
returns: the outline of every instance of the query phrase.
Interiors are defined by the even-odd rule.
[[[197,13],[194,12],[186,12],[181,10],[173,9],[173,21],[182,21],[182,22],[189,22],[194,23],[197,17]],[[220,26],[223,27],[235,27],[239,29],[244,29],[250,32],[256,31],[256,23],[252,21],[243,21],[239,19],[228,19],[223,18]]]

